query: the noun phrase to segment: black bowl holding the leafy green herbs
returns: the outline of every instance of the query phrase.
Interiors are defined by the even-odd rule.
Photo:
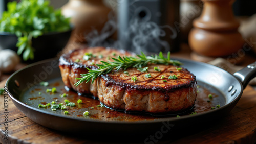
[[[65,32],[50,32],[42,36],[32,39],[32,46],[34,47],[34,60],[23,61],[26,63],[33,63],[36,61],[56,57],[57,53],[66,46],[72,29]],[[2,49],[11,49],[17,52],[17,36],[8,32],[0,32],[0,47]],[[22,55],[20,55],[22,59]]]

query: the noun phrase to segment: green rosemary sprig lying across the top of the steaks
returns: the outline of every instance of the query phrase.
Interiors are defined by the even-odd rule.
[[[167,53],[167,58],[163,56],[163,53],[160,52],[159,55],[155,56],[146,56],[143,52],[141,52],[141,55],[137,55],[137,57],[121,57],[117,56],[117,58],[112,58],[114,62],[105,62],[105,61],[100,61],[102,64],[96,64],[99,69],[92,70],[88,69],[87,74],[81,74],[81,78],[76,78],[79,80],[77,83],[75,83],[75,86],[78,86],[82,82],[86,81],[89,82],[92,80],[92,83],[94,80],[99,77],[101,74],[108,74],[110,73],[113,69],[114,70],[119,70],[119,69],[124,69],[126,70],[129,67],[144,67],[148,63],[153,63],[153,64],[166,64],[166,65],[181,65],[182,63],[177,61],[177,60],[171,60],[170,59],[170,52]]]

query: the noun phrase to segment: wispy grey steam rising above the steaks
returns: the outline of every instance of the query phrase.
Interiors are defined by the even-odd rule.
[[[130,8],[136,11],[134,6]],[[171,39],[177,37],[177,32],[174,28],[168,25],[158,26],[157,23],[150,21],[150,18],[141,19],[134,14],[129,21],[128,28],[122,30],[121,38],[113,40],[110,37],[118,30],[115,19],[116,17],[110,13],[109,21],[105,23],[100,32],[93,30],[86,34],[88,45],[114,47],[116,49],[130,50],[135,53],[140,53],[141,51],[144,53],[157,53],[170,50],[169,43],[163,40],[166,36],[166,30],[172,31],[172,35],[169,36]]]

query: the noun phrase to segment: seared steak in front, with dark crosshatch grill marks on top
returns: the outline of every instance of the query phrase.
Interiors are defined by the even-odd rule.
[[[154,67],[161,72],[154,70]],[[194,105],[197,82],[187,69],[149,65],[148,73],[141,73],[136,68],[126,71],[128,75],[120,70],[98,78],[98,98],[106,106],[126,111],[165,113],[186,110]],[[151,77],[147,78],[146,74],[151,74]],[[173,75],[178,75],[178,78],[168,79]],[[136,81],[132,80],[134,76]]]

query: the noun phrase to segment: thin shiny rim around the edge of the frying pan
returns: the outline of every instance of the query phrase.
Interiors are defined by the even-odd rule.
[[[234,77],[232,74],[228,73],[227,71],[217,67],[217,66],[214,66],[214,65],[210,65],[210,64],[207,64],[207,63],[203,63],[203,62],[198,62],[198,61],[193,61],[193,60],[188,60],[188,59],[181,59],[181,58],[176,58],[174,57],[173,59],[175,60],[181,60],[181,61],[190,61],[190,62],[193,62],[193,63],[197,63],[197,64],[201,64],[201,65],[204,65],[204,66],[207,66],[207,67],[211,67],[211,68],[214,68],[214,69],[217,69],[217,70],[221,70],[222,73],[226,73],[228,75],[231,75],[232,77]],[[51,62],[51,61],[54,61],[54,60],[58,60],[58,58],[51,58],[51,59],[47,59],[47,60],[42,60],[42,61],[39,61],[39,62],[36,62],[36,63],[32,63],[32,64],[29,64],[17,71],[15,71],[6,81],[6,84],[5,86],[8,87],[8,83],[10,81],[10,79],[15,76],[16,74],[20,73],[20,71],[23,71],[27,68],[30,68],[30,67],[33,67],[33,66],[36,66],[36,65],[39,65],[39,64],[43,64],[43,63],[48,63],[48,62]],[[236,77],[234,77],[236,78]],[[237,96],[236,99],[233,99],[233,101],[231,101],[230,103],[227,103],[225,104],[224,106],[218,108],[218,109],[214,109],[214,110],[210,110],[210,111],[206,111],[206,112],[202,112],[202,113],[198,113],[196,115],[184,115],[184,116],[181,116],[179,118],[177,117],[163,117],[163,118],[160,118],[160,119],[153,119],[153,120],[146,120],[146,121],[104,121],[104,120],[96,120],[96,119],[83,119],[83,118],[79,118],[79,117],[68,117],[68,116],[63,116],[63,115],[56,115],[54,113],[51,113],[51,112],[47,112],[47,111],[44,111],[44,110],[40,110],[40,109],[36,109],[34,107],[31,107],[31,106],[28,106],[22,102],[20,102],[19,100],[17,100],[8,90],[8,95],[10,96],[10,98],[12,99],[12,101],[15,101],[16,103],[18,103],[19,105],[22,105],[23,107],[26,107],[28,109],[31,109],[33,111],[36,111],[36,112],[40,112],[40,113],[44,113],[44,114],[47,114],[47,115],[51,115],[51,116],[56,116],[56,117],[60,117],[60,118],[66,118],[66,119],[70,119],[70,120],[75,120],[75,121],[81,121],[81,122],[92,122],[92,123],[105,123],[105,124],[148,124],[148,123],[162,123],[162,122],[176,122],[176,121],[183,121],[185,119],[189,119],[189,118],[197,118],[197,117],[200,117],[200,116],[203,116],[203,115],[208,115],[208,114],[212,114],[212,113],[216,113],[218,111],[221,111],[227,107],[229,107],[230,105],[232,105],[233,103],[237,103],[239,101],[239,99],[241,98],[242,96],[242,93],[243,93],[243,86],[241,84],[241,82],[236,78],[236,80],[240,83],[240,86],[241,86],[241,91],[239,93],[239,95]],[[225,95],[226,97],[226,95]],[[26,114],[25,114],[26,115]],[[27,115],[26,115],[27,116]]]

